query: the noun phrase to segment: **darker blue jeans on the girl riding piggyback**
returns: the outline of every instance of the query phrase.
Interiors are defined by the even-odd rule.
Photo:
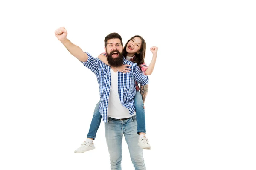
[[[100,102],[100,101],[99,101]],[[99,129],[99,125],[101,122],[102,116],[99,113],[99,102],[96,104],[96,107],[94,109],[93,118],[90,124],[90,129],[87,134],[87,138],[96,138],[96,133]],[[144,104],[142,101],[142,96],[139,91],[136,91],[136,94],[134,96],[134,102],[135,102],[135,111],[136,111],[136,117],[137,117],[137,133],[140,132],[146,133],[146,121],[145,121],[145,111],[144,111]]]

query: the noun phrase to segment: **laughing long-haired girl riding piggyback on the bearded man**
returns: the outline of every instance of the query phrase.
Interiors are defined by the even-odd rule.
[[[151,63],[149,66],[147,66],[144,63],[145,58],[145,50],[146,50],[146,42],[143,39],[143,37],[139,35],[135,35],[131,37],[130,40],[127,41],[127,43],[124,46],[123,49],[123,55],[125,56],[126,60],[132,61],[134,63],[137,63],[137,65],[140,67],[141,71],[145,75],[151,75],[154,69],[154,65],[157,59],[157,50],[158,48],[156,46],[153,46],[150,48],[150,51],[153,53],[153,57],[151,60]],[[102,53],[99,55],[99,59],[107,64],[107,58],[105,56],[105,53]],[[123,65],[121,67],[116,68],[119,72],[130,72],[129,68],[127,68],[130,65]],[[145,111],[144,111],[144,102],[145,102],[145,96],[146,94],[143,94],[143,97],[141,93],[139,92],[140,87],[138,86],[138,83],[135,81],[136,86],[136,95],[134,97],[135,102],[135,112],[136,112],[136,118],[137,118],[137,133],[140,135],[138,145],[143,149],[150,149],[150,144],[148,143],[148,138],[146,138],[145,133]],[[143,93],[144,90],[142,90],[143,86],[141,86],[141,92]],[[96,107],[94,109],[93,119],[90,124],[90,129],[87,134],[87,139],[84,141],[84,143],[79,147],[77,150],[75,150],[75,153],[84,153],[89,150],[95,149],[93,140],[96,138],[97,130],[99,129],[99,125],[101,122],[102,116],[99,112],[99,103],[96,104]]]

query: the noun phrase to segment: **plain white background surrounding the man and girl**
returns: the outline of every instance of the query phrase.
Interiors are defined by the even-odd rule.
[[[54,35],[97,57],[104,38],[158,46],[145,101],[147,170],[256,169],[256,6],[253,0],[44,0],[0,4],[0,169],[110,169],[104,126],[85,140],[96,76]],[[122,170],[132,170],[123,143]]]

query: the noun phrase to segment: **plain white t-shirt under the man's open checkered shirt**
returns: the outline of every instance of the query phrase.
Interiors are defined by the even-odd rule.
[[[121,104],[119,94],[118,94],[118,71],[114,72],[111,69],[111,86],[110,86],[110,93],[108,99],[108,116],[111,118],[130,118],[134,116],[129,114],[129,109],[124,107]]]

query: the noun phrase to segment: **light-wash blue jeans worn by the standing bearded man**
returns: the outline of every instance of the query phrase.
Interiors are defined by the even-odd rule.
[[[108,117],[108,123],[105,123],[105,137],[108,145],[111,170],[122,170],[123,135],[125,136],[135,170],[146,170],[143,149],[138,145],[139,135],[136,134],[136,130],[136,115],[123,121]]]

